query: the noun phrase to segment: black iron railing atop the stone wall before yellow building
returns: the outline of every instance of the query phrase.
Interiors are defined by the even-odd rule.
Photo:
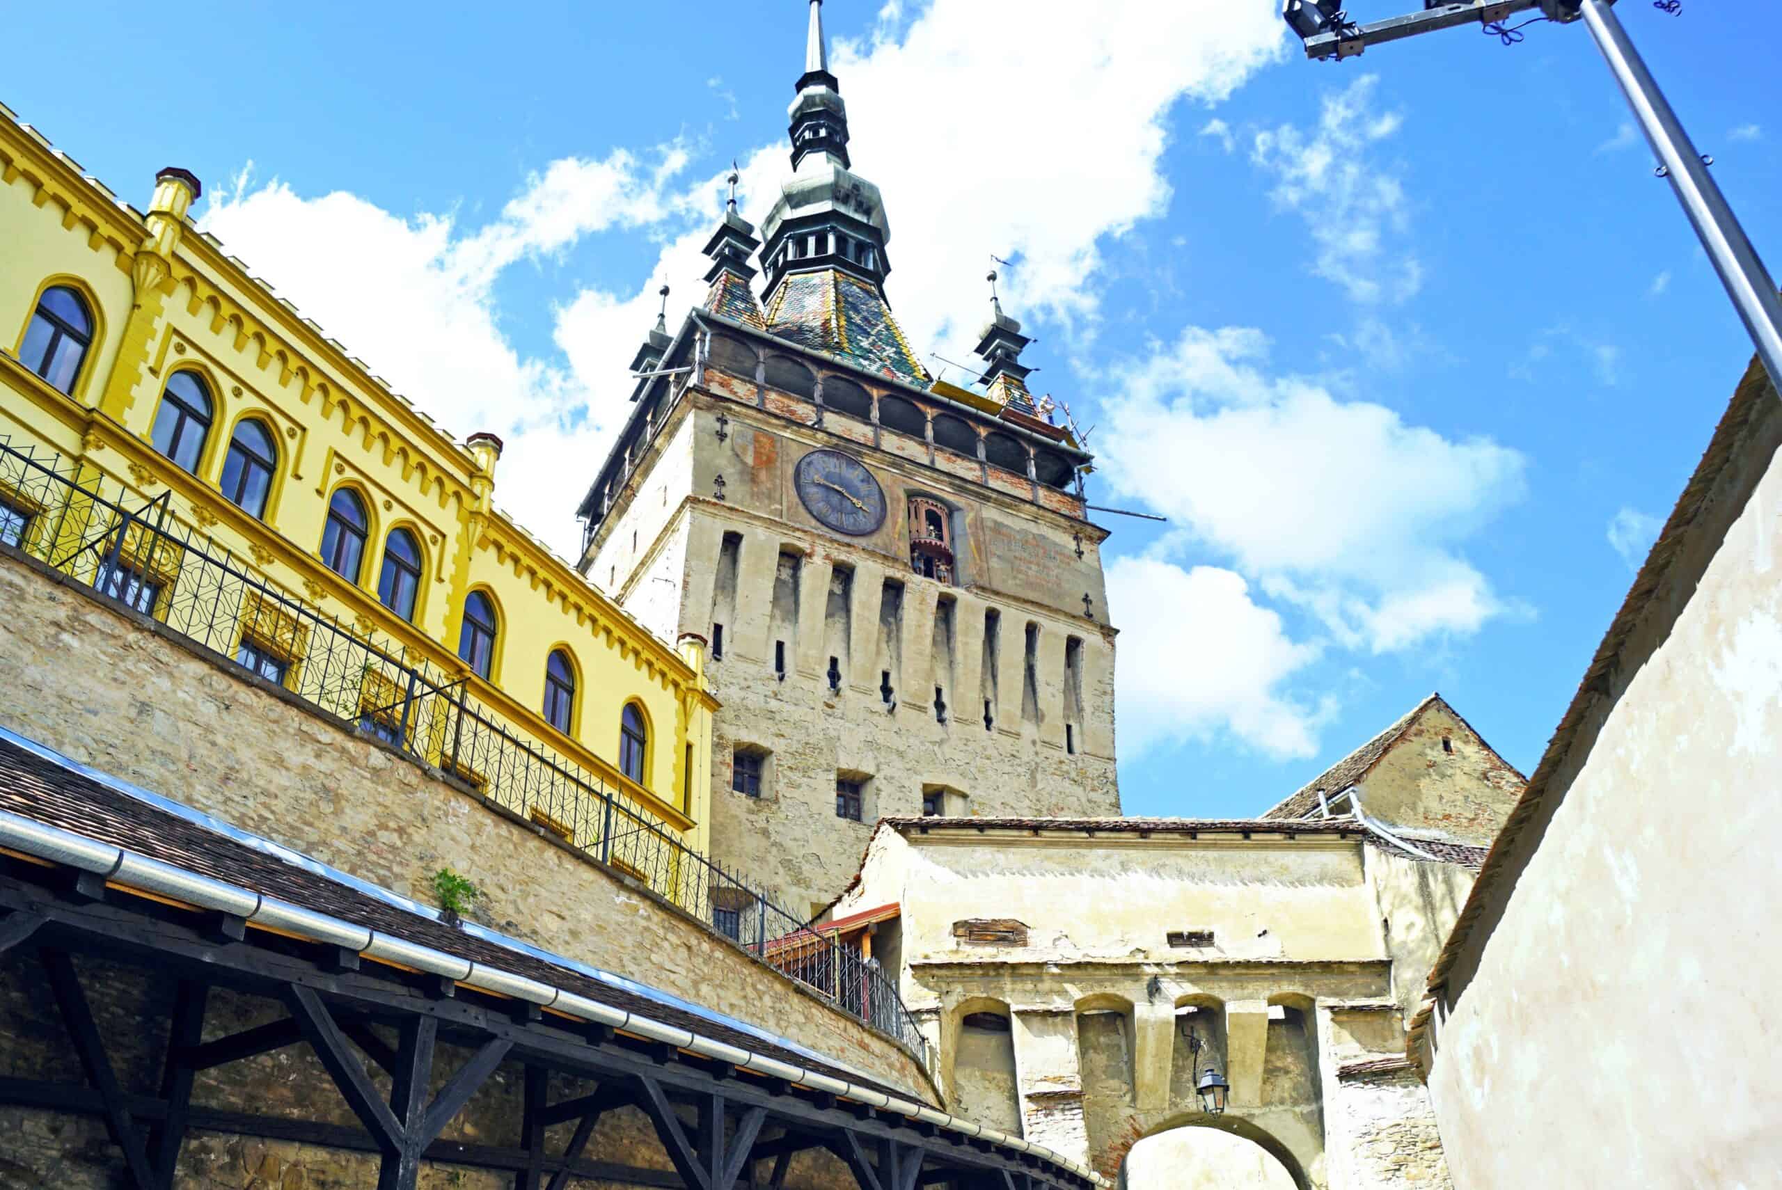
[[[171,497],[146,499],[82,461],[0,436],[0,543],[456,777],[927,1058],[879,962],[688,848],[599,773],[522,736],[462,673],[292,595],[187,526]]]

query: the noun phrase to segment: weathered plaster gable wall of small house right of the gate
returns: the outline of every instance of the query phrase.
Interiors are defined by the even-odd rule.
[[[1395,827],[1490,846],[1522,796],[1522,773],[1463,718],[1436,702],[1369,771],[1361,805],[1372,818]]]

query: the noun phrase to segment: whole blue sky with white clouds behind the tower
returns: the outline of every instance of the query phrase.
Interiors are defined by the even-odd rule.
[[[0,100],[137,205],[196,171],[572,549],[654,289],[697,298],[732,157],[756,219],[786,171],[804,5],[105,7],[12,12]],[[1775,258],[1762,9],[1618,7]],[[1012,258],[1092,499],[1171,518],[1103,517],[1128,812],[1260,811],[1431,689],[1533,768],[1750,358],[1582,27],[1338,66],[1271,0],[825,12],[911,337],[964,358]]]

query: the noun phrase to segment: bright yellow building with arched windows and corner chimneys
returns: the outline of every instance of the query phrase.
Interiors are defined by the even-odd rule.
[[[454,442],[200,233],[0,107],[0,540],[652,884],[706,850],[704,641],[499,513]],[[666,866],[674,866],[668,862]],[[642,871],[649,868],[650,871]]]

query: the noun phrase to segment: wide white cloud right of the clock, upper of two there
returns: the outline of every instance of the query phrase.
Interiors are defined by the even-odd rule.
[[[1515,609],[1459,547],[1522,495],[1516,451],[1265,363],[1260,331],[1187,328],[1117,369],[1096,442],[1110,485],[1349,648],[1470,634]]]

